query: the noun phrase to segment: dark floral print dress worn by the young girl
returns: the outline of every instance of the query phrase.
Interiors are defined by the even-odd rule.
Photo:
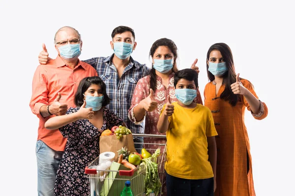
[[[69,108],[66,114],[77,112],[80,107]],[[99,136],[106,129],[122,124],[121,118],[107,108],[103,108],[103,125],[96,128],[87,119],[80,119],[59,128],[67,138],[57,172],[55,196],[88,196],[89,178],[84,173],[85,167],[99,156]]]

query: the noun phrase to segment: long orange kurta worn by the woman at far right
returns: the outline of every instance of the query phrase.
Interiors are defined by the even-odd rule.
[[[256,98],[257,95],[248,80],[241,79]],[[217,168],[215,196],[255,196],[252,159],[247,128],[244,123],[245,108],[249,111],[250,106],[246,99],[240,95],[236,106],[229,101],[220,99],[225,86],[222,85],[216,95],[216,87],[213,82],[207,83],[204,91],[205,106],[213,115],[217,145]],[[252,114],[257,120],[267,116],[266,104],[260,101],[259,114]],[[247,153],[249,158],[249,172],[247,173]]]

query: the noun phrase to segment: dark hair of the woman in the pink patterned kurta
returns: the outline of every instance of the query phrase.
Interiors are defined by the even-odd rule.
[[[178,70],[177,70],[177,65],[176,65],[176,59],[177,59],[177,46],[175,45],[175,43],[171,40],[171,39],[168,39],[168,38],[161,38],[157,41],[155,41],[150,50],[149,50],[149,56],[151,56],[151,58],[153,57],[155,51],[157,48],[159,48],[160,46],[167,46],[171,52],[173,53],[173,56],[174,56],[174,59],[173,59],[173,68],[172,68],[172,72],[176,73]],[[152,67],[150,72],[149,72],[149,75],[150,75],[150,82],[149,82],[149,85],[150,85],[150,88],[155,91],[156,90],[156,70]]]

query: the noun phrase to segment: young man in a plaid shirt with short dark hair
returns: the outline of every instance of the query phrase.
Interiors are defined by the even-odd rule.
[[[146,64],[140,64],[130,56],[136,48],[134,30],[128,26],[116,27],[112,34],[111,48],[114,53],[108,57],[96,57],[86,60],[94,67],[107,86],[107,94],[112,99],[107,106],[121,117],[133,133],[144,133],[144,123],[134,124],[128,119],[128,109],[137,81],[148,74]],[[40,64],[46,64],[47,51],[39,54]],[[134,142],[143,142],[143,138],[134,138]],[[142,148],[142,145],[136,145]]]

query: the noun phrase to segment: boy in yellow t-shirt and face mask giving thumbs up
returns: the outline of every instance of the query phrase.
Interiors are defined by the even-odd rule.
[[[193,102],[198,74],[193,69],[174,75],[177,102],[164,105],[157,128],[167,131],[165,163],[168,196],[213,196],[216,188],[217,135],[211,111]],[[213,177],[214,176],[214,177]]]

